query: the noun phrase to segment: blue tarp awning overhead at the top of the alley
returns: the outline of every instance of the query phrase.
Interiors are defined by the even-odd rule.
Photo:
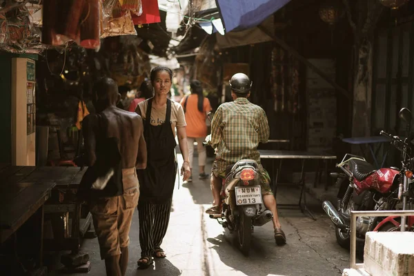
[[[253,28],[290,0],[216,0],[226,32]]]

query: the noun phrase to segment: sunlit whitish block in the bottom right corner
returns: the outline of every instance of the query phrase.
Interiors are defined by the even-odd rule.
[[[414,276],[414,233],[368,232],[364,268],[371,275]]]

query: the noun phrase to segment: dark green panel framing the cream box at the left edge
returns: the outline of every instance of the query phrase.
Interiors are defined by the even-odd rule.
[[[0,52],[0,162],[12,160],[12,58],[26,57],[37,60],[37,55],[14,55]],[[26,112],[22,110],[22,112]]]

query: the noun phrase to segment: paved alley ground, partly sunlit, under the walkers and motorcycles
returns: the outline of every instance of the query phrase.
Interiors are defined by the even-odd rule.
[[[224,236],[223,228],[217,221],[204,215],[211,201],[209,182],[195,177],[192,184],[182,184],[180,180],[179,186],[175,189],[170,227],[162,245],[167,258],[156,260],[155,265],[147,270],[137,270],[140,248],[138,215],[135,212],[130,232],[127,275],[328,276],[341,275],[342,270],[348,267],[348,250],[336,244],[331,221],[324,215],[319,201],[310,195],[308,206],[317,221],[299,210],[279,210],[288,243],[282,247],[275,245],[270,222],[255,228],[250,256],[244,257],[230,244],[230,239]],[[298,195],[299,189],[294,186],[280,187],[277,201],[295,202]],[[97,239],[86,239],[81,250],[90,253],[92,269],[88,275],[105,275]]]

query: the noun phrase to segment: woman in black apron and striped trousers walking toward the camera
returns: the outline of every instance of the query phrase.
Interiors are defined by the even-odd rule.
[[[168,228],[177,172],[175,129],[184,159],[181,175],[184,181],[190,176],[184,111],[179,103],[167,99],[172,71],[166,67],[153,68],[150,79],[155,96],[139,103],[136,109],[144,119],[148,155],[146,169],[137,170],[141,192],[138,204],[141,258],[137,262],[140,268],[148,268],[152,257],[166,257],[161,242]]]

